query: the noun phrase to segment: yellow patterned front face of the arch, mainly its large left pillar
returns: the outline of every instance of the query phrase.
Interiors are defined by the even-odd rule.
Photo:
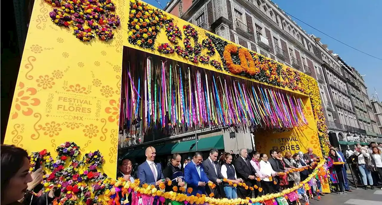
[[[81,42],[73,36],[73,26],[59,27],[51,21],[52,6],[44,0],[35,1],[5,144],[15,144],[28,151],[48,149],[54,157],[58,145],[74,141],[83,152],[99,149],[105,157],[105,172],[115,176],[123,46],[159,53],[128,42],[129,2],[113,2],[121,19],[114,39],[101,42],[94,38],[91,42]],[[180,28],[189,24],[167,15],[174,18]],[[206,38],[206,30],[194,27],[199,32],[200,41]],[[165,42],[168,42],[165,33],[160,32],[156,45]],[[206,50],[202,52],[206,53]],[[176,54],[162,56],[190,63]],[[221,62],[218,53],[211,59]],[[233,75],[209,64],[196,65]],[[291,92],[306,96],[299,91]],[[304,135],[307,138],[317,136],[312,115],[309,126],[311,132],[304,131]]]

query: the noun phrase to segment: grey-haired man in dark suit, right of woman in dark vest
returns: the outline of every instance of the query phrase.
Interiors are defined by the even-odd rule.
[[[256,177],[260,175],[256,173],[256,170],[252,167],[247,157],[247,149],[240,149],[240,157],[235,160],[235,168],[237,177],[243,179],[244,183],[246,183],[248,187],[251,187],[256,184]],[[238,187],[238,196],[241,199],[245,199],[246,197],[252,198],[252,191],[250,189],[246,190],[244,187]]]

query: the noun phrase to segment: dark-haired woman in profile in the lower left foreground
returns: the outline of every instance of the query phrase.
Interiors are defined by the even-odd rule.
[[[30,168],[28,152],[13,145],[0,145],[0,205],[52,203],[53,189],[33,197],[32,190],[42,181],[42,170],[31,174]]]

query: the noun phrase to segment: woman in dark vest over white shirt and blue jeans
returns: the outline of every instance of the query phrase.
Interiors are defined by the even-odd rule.
[[[235,167],[231,164],[231,162],[232,155],[230,153],[225,153],[224,163],[220,172],[222,173],[222,176],[227,179],[227,181],[223,183],[225,196],[227,199],[236,199],[238,194],[236,187],[233,186],[233,183],[238,184],[243,180],[237,178]]]

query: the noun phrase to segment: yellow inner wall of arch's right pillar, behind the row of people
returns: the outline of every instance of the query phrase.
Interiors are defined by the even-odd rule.
[[[317,156],[322,157],[310,99],[304,98],[303,102],[306,108],[304,115],[306,116],[306,120],[308,120],[308,125],[295,127],[290,131],[283,132],[264,130],[256,132],[254,138],[257,151],[269,154],[271,149],[280,149],[283,154],[285,154],[286,151],[295,154],[299,151],[306,153],[308,148],[311,147]]]

